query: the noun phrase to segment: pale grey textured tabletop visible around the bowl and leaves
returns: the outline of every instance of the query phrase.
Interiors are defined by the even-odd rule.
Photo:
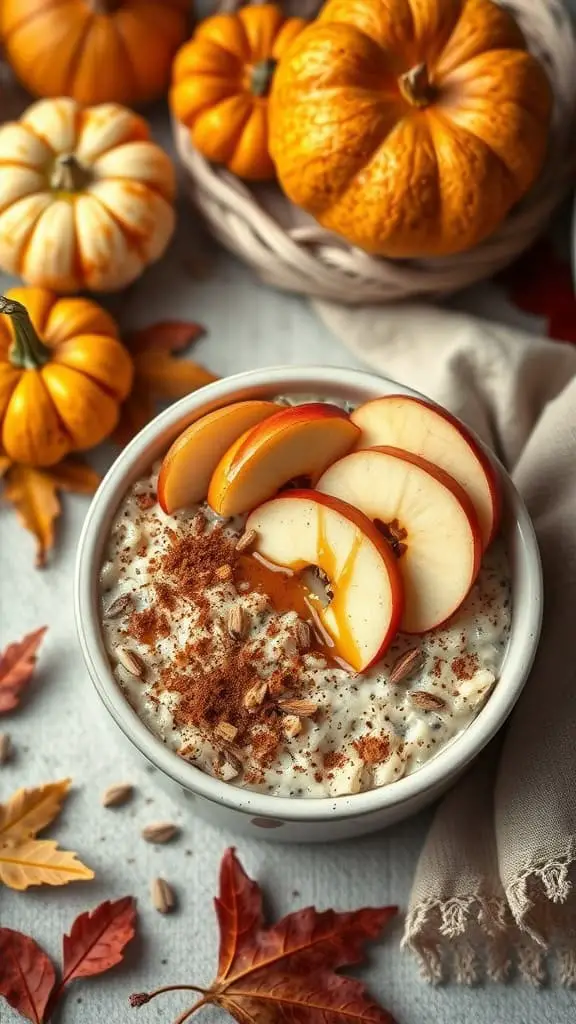
[[[162,117],[157,120],[165,137]],[[122,298],[111,302],[124,326],[158,318],[190,317],[205,324],[208,337],[196,355],[218,374],[280,362],[357,364],[298,298],[273,293],[254,282],[234,259],[207,245],[195,247],[188,212],[169,257],[147,273]],[[203,263],[203,278],[198,264]],[[9,286],[0,276],[0,286]],[[491,289],[478,289],[458,300],[485,315],[510,316]],[[110,453],[98,454],[104,469]],[[130,1011],[131,991],[161,984],[209,982],[215,963],[216,932],[211,897],[218,859],[234,836],[206,825],[190,808],[166,797],[157,778],[137,761],[91,691],[75,635],[72,572],[86,500],[66,498],[57,554],[43,572],[33,569],[33,544],[10,511],[0,513],[0,643],[42,624],[49,626],[37,684],[26,706],[2,721],[15,748],[13,760],[0,769],[0,800],[20,785],[72,776],[74,790],[50,836],[77,850],[96,871],[93,883],[60,890],[0,892],[2,925],[34,935],[54,956],[59,936],[76,913],[101,899],[128,893],[138,898],[140,938],[125,964],[101,979],[80,983],[56,1016],[64,1024],[125,1024],[130,1020],[171,1021],[184,1004],[169,996],[140,1011]],[[137,795],[129,807],[106,811],[101,791],[112,782],[132,781]],[[170,819],[181,824],[181,838],[169,847],[149,846],[139,838],[146,823]],[[429,814],[387,833],[328,847],[283,848],[265,842],[239,842],[248,870],[273,895],[275,913],[316,903],[352,908],[361,904],[406,904],[410,880]],[[161,874],[174,883],[177,913],[161,918],[150,905],[149,885]],[[430,989],[415,966],[400,953],[400,927],[374,947],[363,971],[384,1006],[401,1024],[569,1024],[576,998],[567,991],[535,992],[516,984],[477,990]],[[133,1016],[138,1015],[138,1016]],[[222,1015],[205,1011],[206,1019]],[[15,1015],[0,1002],[0,1022]]]

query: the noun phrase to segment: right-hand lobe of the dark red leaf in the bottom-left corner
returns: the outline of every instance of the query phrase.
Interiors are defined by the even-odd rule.
[[[136,907],[131,896],[107,900],[94,910],[81,913],[70,935],[63,940],[64,968],[61,986],[77,978],[104,974],[120,964],[124,948],[133,939]]]

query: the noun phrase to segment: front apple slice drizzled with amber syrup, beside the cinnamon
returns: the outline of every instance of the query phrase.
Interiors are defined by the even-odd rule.
[[[392,550],[362,512],[317,490],[286,490],[248,516],[254,550],[299,572],[322,569],[333,593],[319,611],[341,658],[357,672],[377,662],[398,631],[404,594]]]

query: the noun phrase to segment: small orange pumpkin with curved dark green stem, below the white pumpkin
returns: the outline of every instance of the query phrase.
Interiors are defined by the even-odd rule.
[[[0,446],[14,462],[51,466],[114,430],[132,386],[116,324],[88,299],[44,288],[0,297]]]

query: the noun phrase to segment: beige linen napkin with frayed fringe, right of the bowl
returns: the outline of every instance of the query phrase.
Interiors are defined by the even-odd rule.
[[[576,985],[576,348],[424,305],[317,309],[372,369],[493,446],[544,566],[532,675],[503,740],[440,805],[404,943],[431,981],[503,980],[516,966],[534,982]]]

